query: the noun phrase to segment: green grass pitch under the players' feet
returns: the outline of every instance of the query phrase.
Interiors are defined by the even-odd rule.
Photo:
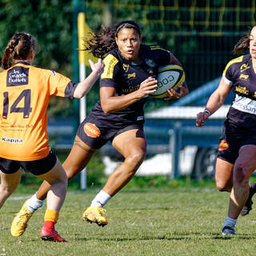
[[[235,237],[222,238],[229,194],[214,188],[123,190],[106,205],[109,224],[103,228],[82,222],[94,194],[67,194],[56,225],[67,243],[39,238],[46,206],[34,214],[21,237],[11,237],[10,223],[24,199],[8,199],[0,211],[0,255],[255,254],[256,210],[238,219]]]

